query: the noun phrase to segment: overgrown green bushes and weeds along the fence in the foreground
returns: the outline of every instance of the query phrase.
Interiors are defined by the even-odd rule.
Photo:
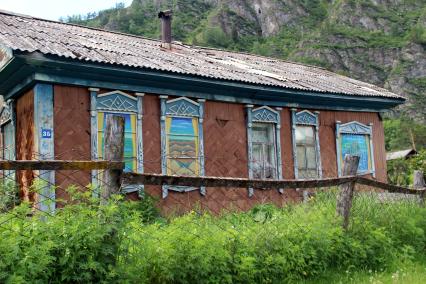
[[[420,259],[426,208],[357,196],[342,231],[335,193],[278,209],[159,218],[152,200],[90,192],[44,216],[22,204],[0,215],[0,282],[283,283],[330,271],[393,271]],[[141,209],[142,208],[142,209]],[[149,209],[151,208],[151,209]],[[423,260],[422,260],[423,261]]]

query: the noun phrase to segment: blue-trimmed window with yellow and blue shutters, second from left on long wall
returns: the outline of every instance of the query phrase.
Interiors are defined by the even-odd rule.
[[[167,175],[204,176],[203,113],[205,100],[198,102],[185,97],[161,99],[161,156],[162,172]],[[200,190],[205,187],[163,186],[163,198],[169,190]]]

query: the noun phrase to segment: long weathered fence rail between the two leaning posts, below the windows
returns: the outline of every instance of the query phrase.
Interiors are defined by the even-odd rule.
[[[226,177],[182,177],[162,174],[135,174],[123,173],[122,183],[124,184],[145,184],[145,185],[179,185],[179,186],[207,186],[207,187],[228,187],[228,188],[316,188],[337,186],[346,182],[356,181],[355,176],[341,178],[327,178],[321,180],[258,180],[247,178],[226,178]]]

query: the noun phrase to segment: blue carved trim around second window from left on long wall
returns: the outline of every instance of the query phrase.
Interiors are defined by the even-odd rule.
[[[204,119],[204,103],[205,99],[198,99],[198,102],[190,100],[186,97],[180,97],[167,100],[168,96],[160,96],[160,127],[161,127],[161,171],[167,174],[167,149],[166,149],[166,117],[198,117],[198,163],[200,168],[200,176],[205,176],[204,169],[204,136],[203,136],[203,119]],[[197,190],[197,187],[190,186],[162,186],[162,196],[166,198],[169,190],[178,192],[188,192]],[[201,195],[206,195],[206,188],[200,187]]]

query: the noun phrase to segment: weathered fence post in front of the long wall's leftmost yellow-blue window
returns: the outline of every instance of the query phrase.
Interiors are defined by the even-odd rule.
[[[121,162],[124,156],[124,118],[106,115],[104,133],[104,160]],[[102,175],[101,201],[105,202],[120,190],[122,170],[105,170]]]

